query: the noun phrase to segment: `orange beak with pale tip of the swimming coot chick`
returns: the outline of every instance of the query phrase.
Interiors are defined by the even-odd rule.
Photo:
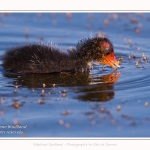
[[[114,52],[111,52],[108,55],[103,55],[101,63],[104,65],[108,65],[112,68],[116,68],[116,66],[120,67],[119,63],[117,62],[114,56]]]

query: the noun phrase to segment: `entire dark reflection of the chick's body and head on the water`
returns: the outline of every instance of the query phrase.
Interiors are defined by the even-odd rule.
[[[5,77],[13,79],[12,84],[19,87],[53,88],[57,87],[76,87],[75,98],[83,101],[108,101],[114,97],[113,83],[118,80],[119,72],[116,70],[110,74],[92,77],[89,74],[10,74],[5,73]],[[96,76],[96,75],[94,75]],[[70,93],[70,92],[69,92]]]

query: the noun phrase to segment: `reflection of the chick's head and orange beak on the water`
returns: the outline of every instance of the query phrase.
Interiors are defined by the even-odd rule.
[[[80,92],[83,94],[78,99],[83,101],[105,102],[111,100],[114,95],[114,82],[118,81],[120,73],[116,70],[110,74],[93,78],[93,84],[86,88],[82,88]],[[97,84],[95,84],[97,83]]]

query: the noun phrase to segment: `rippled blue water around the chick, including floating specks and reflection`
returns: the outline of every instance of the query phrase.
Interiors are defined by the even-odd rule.
[[[0,66],[0,137],[150,137],[149,24],[148,13],[0,14],[1,64],[13,46],[65,51],[96,34],[122,59],[117,71],[93,64],[89,75],[16,75]]]

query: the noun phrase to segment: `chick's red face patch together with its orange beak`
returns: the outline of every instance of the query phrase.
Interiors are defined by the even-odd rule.
[[[100,60],[100,63],[103,65],[108,65],[112,68],[120,67],[115,55],[113,46],[108,41],[103,41],[101,43],[101,49],[102,49],[102,58]]]

